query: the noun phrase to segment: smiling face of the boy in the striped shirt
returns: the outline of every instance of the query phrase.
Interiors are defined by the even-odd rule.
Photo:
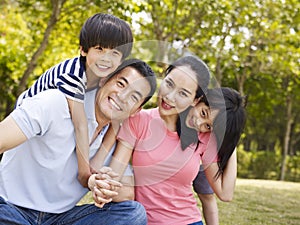
[[[87,76],[98,78],[107,77],[115,71],[122,62],[122,52],[116,49],[101,48],[95,46],[89,48],[88,52],[81,51],[82,56],[86,56]]]

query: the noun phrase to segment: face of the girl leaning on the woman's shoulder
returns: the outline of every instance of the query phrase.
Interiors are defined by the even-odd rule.
[[[218,112],[219,110],[210,110],[204,102],[200,102],[189,111],[185,121],[186,126],[201,133],[211,132]]]

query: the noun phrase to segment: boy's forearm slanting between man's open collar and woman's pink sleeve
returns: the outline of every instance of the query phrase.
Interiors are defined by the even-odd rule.
[[[119,122],[110,124],[100,148],[98,149],[94,157],[90,160],[90,165],[93,173],[96,173],[100,168],[102,168],[106,156],[112,150],[112,147],[116,142],[119,129]]]

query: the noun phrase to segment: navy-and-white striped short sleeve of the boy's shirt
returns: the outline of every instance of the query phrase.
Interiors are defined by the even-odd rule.
[[[56,85],[67,98],[83,103],[86,88],[85,79],[70,73],[61,74],[57,77]]]

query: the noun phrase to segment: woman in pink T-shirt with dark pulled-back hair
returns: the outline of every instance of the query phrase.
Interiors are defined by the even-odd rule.
[[[210,135],[183,151],[176,122],[179,113],[199,102],[209,79],[207,66],[197,57],[178,59],[161,83],[158,108],[143,110],[122,124],[111,167],[122,174],[134,149],[135,198],[145,206],[150,225],[201,221],[191,185]],[[213,149],[215,153],[216,145]]]

